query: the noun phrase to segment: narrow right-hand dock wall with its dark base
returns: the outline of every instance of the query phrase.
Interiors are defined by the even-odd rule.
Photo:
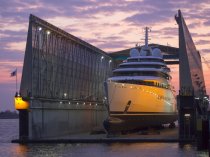
[[[197,139],[200,149],[207,147],[209,139],[209,101],[201,55],[195,47],[180,10],[175,20],[179,26],[179,138]]]

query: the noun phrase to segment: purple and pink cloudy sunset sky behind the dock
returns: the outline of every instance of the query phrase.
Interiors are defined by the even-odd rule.
[[[201,53],[210,94],[210,0],[1,0],[0,111],[14,110],[15,77],[10,73],[18,69],[19,88],[30,14],[114,52],[143,45],[146,26],[152,30],[149,43],[178,47],[178,9]],[[171,70],[178,89],[178,68]]]

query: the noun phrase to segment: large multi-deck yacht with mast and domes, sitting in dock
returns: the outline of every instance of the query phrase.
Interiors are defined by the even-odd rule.
[[[108,132],[159,126],[177,120],[176,100],[170,85],[170,69],[158,48],[145,46],[113,71],[105,83],[109,117],[104,121]]]

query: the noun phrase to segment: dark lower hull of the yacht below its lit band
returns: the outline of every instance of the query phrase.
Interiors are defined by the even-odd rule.
[[[171,114],[110,114],[104,121],[104,127],[109,133],[161,126],[176,121],[177,113]]]

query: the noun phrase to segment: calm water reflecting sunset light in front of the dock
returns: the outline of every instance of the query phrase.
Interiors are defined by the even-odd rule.
[[[13,144],[18,137],[17,119],[0,119],[0,157],[207,157],[192,145],[177,143],[136,144]]]

